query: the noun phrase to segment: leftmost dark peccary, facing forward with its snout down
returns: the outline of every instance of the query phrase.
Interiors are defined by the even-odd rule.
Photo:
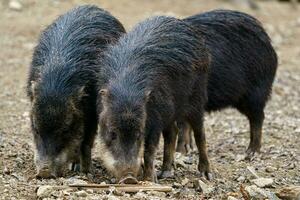
[[[90,170],[99,57],[124,32],[110,13],[90,5],[68,11],[42,32],[27,83],[38,177],[61,176],[70,163]]]

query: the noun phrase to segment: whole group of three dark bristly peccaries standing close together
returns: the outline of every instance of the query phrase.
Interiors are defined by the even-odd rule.
[[[101,8],[74,8],[42,32],[29,70],[36,176],[64,176],[69,166],[92,172],[97,140],[103,166],[120,183],[157,181],[173,175],[176,148],[186,153],[194,135],[199,172],[212,179],[205,112],[233,107],[247,116],[253,157],[276,68],[270,38],[245,13],[155,16],[126,33]]]

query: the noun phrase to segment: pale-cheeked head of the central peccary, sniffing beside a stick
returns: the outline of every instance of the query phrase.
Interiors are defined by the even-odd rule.
[[[134,93],[115,88],[100,90],[101,157],[118,180],[137,177],[144,155],[146,104],[150,92]]]

